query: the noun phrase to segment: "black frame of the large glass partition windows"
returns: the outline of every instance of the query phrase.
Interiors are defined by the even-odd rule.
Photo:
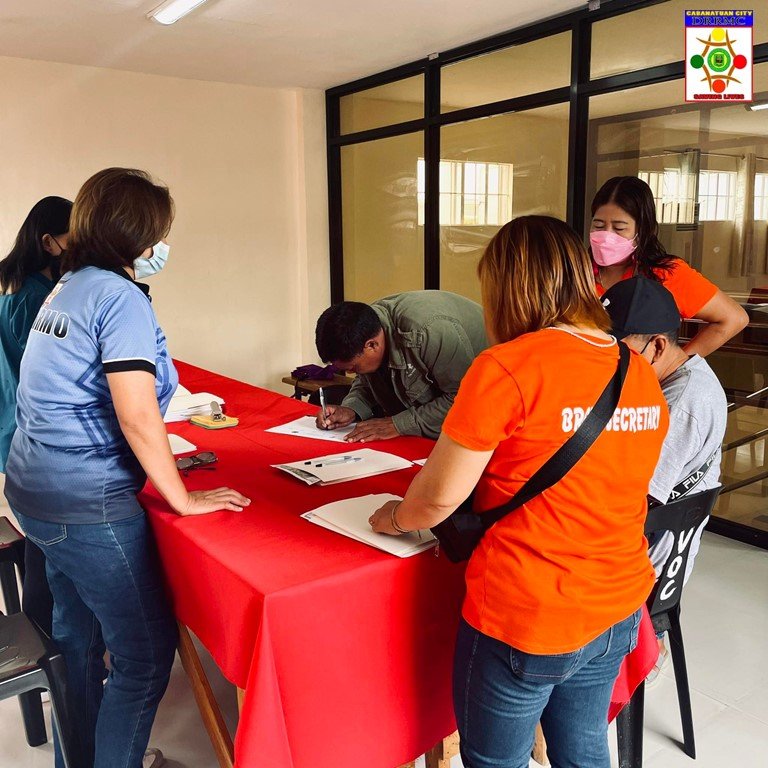
[[[591,0],[588,8],[553,16],[328,89],[325,96],[331,301],[337,303],[344,300],[342,147],[423,131],[426,161],[424,288],[437,289],[440,287],[440,129],[446,125],[481,117],[524,112],[537,107],[567,103],[569,124],[566,221],[577,232],[583,233],[586,214],[584,193],[588,181],[590,97],[670,80],[681,80],[682,85],[682,79],[685,76],[685,61],[681,59],[668,64],[591,79],[592,25],[666,2],[669,0],[610,0],[603,3],[600,3],[600,0]],[[440,74],[444,66],[563,32],[571,34],[571,82],[569,85],[493,103],[441,112]],[[766,62],[768,62],[768,43],[756,45],[753,56],[754,65]],[[422,118],[355,133],[341,133],[342,97],[417,75],[424,76],[424,116]],[[715,517],[711,519],[709,529],[768,549],[768,532]]]

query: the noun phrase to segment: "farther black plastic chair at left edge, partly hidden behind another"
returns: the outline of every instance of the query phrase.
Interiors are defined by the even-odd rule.
[[[7,517],[0,517],[0,587],[3,591],[5,610],[9,614],[21,612],[16,571],[24,581],[24,537],[13,527]],[[0,669],[0,671],[2,671]],[[24,720],[27,744],[39,747],[48,741],[40,692],[27,691],[19,696],[19,706]]]

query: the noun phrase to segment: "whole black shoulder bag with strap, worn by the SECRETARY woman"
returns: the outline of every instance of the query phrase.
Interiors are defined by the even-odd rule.
[[[619,403],[628,368],[629,348],[619,342],[619,364],[616,373],[598,398],[595,407],[573,435],[508,502],[486,512],[477,513],[472,511],[472,496],[470,496],[450,517],[432,528],[432,533],[440,542],[440,548],[449,560],[454,563],[468,560],[491,526],[562,480],[573,469],[611,420]]]

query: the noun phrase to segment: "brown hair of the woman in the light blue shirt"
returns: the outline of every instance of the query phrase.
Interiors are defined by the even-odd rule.
[[[91,176],[75,198],[64,271],[129,267],[162,240],[173,221],[168,188],[145,171],[107,168]]]

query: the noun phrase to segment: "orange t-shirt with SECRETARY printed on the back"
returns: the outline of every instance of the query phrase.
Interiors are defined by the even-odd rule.
[[[486,350],[467,371],[443,431],[493,451],[476,510],[514,495],[597,402],[618,348],[585,338],[526,334]],[[646,495],[668,422],[654,372],[632,353],[619,406],[589,452],[473,553],[462,611],[469,624],[526,653],[569,653],[642,605],[654,584]]]

